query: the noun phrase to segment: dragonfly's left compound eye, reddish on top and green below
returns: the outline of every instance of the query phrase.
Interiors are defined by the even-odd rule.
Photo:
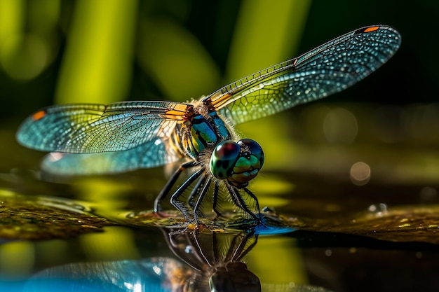
[[[241,146],[234,141],[222,141],[210,157],[210,172],[217,179],[227,179],[241,153]]]

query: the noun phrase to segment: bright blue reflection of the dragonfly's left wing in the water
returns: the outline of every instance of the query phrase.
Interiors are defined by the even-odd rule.
[[[172,292],[184,274],[180,262],[172,258],[71,263],[52,267],[30,278],[23,291]]]

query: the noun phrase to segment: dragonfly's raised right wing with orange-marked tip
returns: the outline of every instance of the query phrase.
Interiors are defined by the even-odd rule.
[[[255,120],[348,88],[381,67],[400,43],[392,27],[363,27],[206,98],[234,124]]]

